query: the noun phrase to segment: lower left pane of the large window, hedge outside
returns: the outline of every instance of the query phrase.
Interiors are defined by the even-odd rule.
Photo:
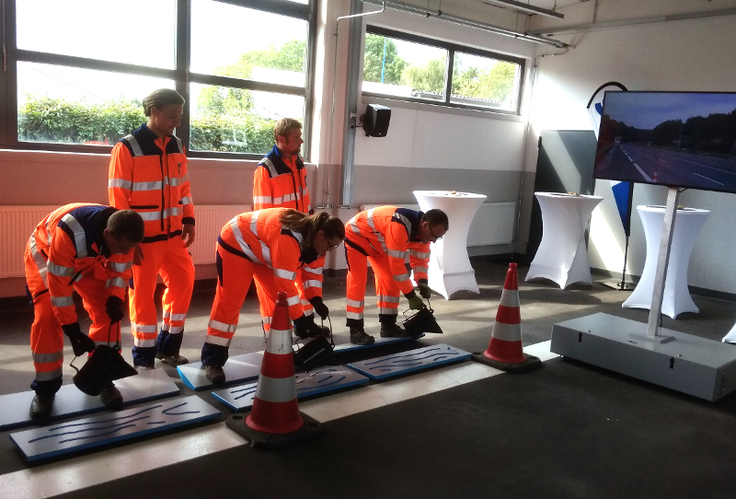
[[[146,121],[141,101],[170,80],[18,63],[18,140],[114,144]]]

